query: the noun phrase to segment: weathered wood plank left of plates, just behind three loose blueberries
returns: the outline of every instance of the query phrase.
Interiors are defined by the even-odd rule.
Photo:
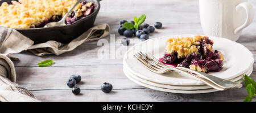
[[[110,82],[114,89],[142,88],[127,79],[122,71],[122,65],[117,66],[72,66],[72,67],[16,67],[19,85],[29,90],[69,89],[66,81],[69,76],[82,76],[80,88],[100,89],[103,82]],[[256,80],[256,63],[251,78]]]

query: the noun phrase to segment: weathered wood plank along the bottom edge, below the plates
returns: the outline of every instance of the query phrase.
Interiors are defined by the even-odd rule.
[[[42,101],[238,101],[247,96],[245,88],[229,89],[223,92],[205,94],[176,94],[152,89],[120,89],[111,93],[101,90],[81,90],[81,95],[74,95],[69,90],[35,90],[32,93]]]

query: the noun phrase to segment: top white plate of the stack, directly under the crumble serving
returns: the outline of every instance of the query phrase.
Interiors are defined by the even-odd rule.
[[[123,65],[127,66],[130,72],[141,77],[142,79],[158,82],[168,85],[204,85],[203,82],[192,79],[192,77],[179,75],[176,72],[171,72],[164,75],[149,71],[143,67],[137,59],[134,58],[134,53],[142,51],[151,53],[156,58],[161,58],[164,55],[166,40],[171,37],[193,37],[195,34],[183,34],[175,36],[164,36],[152,38],[141,42],[131,47],[123,58]],[[234,79],[246,71],[248,71],[254,63],[253,54],[243,45],[237,42],[230,41],[226,38],[209,36],[214,41],[213,49],[219,50],[224,55],[224,69],[220,72],[210,72],[210,75],[220,77],[225,80]]]

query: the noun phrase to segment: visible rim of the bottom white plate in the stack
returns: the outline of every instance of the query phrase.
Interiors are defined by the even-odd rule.
[[[125,75],[133,82],[137,83],[138,85],[142,85],[144,87],[150,88],[150,89],[154,89],[154,90],[159,90],[162,92],[170,92],[170,93],[183,93],[183,94],[199,94],[199,93],[210,93],[210,92],[217,92],[218,90],[210,88],[210,89],[196,89],[196,90],[177,90],[177,89],[167,89],[167,88],[160,88],[158,86],[154,86],[154,85],[149,85],[149,84],[145,84],[141,81],[138,81],[136,79],[133,78],[133,76],[130,76],[128,73],[126,73],[126,71],[123,71],[125,73]],[[243,79],[238,80],[236,82],[242,82]]]

